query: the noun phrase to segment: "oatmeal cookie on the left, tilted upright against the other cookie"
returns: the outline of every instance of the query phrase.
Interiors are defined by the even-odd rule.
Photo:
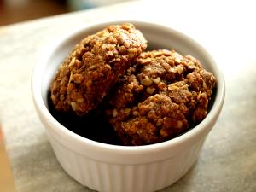
[[[96,108],[146,47],[143,34],[129,23],[84,38],[55,75],[51,86],[55,109],[84,115]]]

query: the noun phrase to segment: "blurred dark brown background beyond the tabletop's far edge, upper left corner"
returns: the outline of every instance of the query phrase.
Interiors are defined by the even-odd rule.
[[[129,0],[0,0],[0,26]]]

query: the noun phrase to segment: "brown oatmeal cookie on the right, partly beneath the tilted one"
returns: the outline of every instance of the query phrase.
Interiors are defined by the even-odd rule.
[[[215,85],[192,56],[143,52],[108,96],[106,115],[123,144],[160,143],[206,117]]]

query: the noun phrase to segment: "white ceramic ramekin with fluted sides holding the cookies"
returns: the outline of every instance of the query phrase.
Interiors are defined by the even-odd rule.
[[[224,78],[205,49],[193,39],[169,27],[131,21],[148,39],[149,49],[176,49],[194,55],[217,81],[212,108],[199,125],[170,141],[147,146],[115,146],[97,143],[67,130],[49,113],[47,92],[57,67],[84,36],[122,21],[85,26],[50,46],[32,74],[32,98],[57,160],[75,180],[90,189],[106,192],[147,192],[175,183],[189,171],[207,134],[218,119],[224,102]]]

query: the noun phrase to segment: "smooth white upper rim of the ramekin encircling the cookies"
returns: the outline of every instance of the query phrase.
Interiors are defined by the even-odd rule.
[[[154,144],[143,145],[143,146],[120,146],[120,145],[113,145],[108,143],[99,143],[99,142],[90,140],[88,138],[81,137],[78,134],[74,133],[73,131],[68,130],[65,126],[61,125],[61,123],[59,123],[49,113],[48,108],[44,104],[43,96],[41,95],[43,75],[44,75],[44,73],[42,72],[44,71],[44,68],[47,66],[47,62],[49,61],[49,58],[51,57],[52,53],[54,53],[54,50],[58,49],[61,46],[61,44],[64,44],[68,39],[74,38],[80,32],[85,32],[86,30],[89,30],[92,28],[103,28],[104,26],[109,26],[112,24],[120,24],[125,22],[131,22],[135,26],[153,26],[153,27],[160,28],[161,30],[166,32],[175,33],[175,35],[177,35],[180,38],[184,38],[186,41],[193,44],[196,47],[196,49],[198,49],[203,55],[207,56],[207,58],[211,62],[211,67],[214,68],[214,71],[215,71],[214,75],[218,80],[218,82],[217,82],[216,97],[215,97],[215,101],[213,102],[212,108],[207,114],[207,117],[203,119],[199,125],[196,125],[194,128],[190,129],[184,134],[178,137],[172,138],[171,140],[168,140],[166,142],[154,143]],[[207,50],[201,46],[201,44],[195,42],[194,39],[189,38],[189,36],[185,35],[183,32],[178,32],[177,30],[172,29],[169,26],[163,26],[154,22],[141,21],[141,20],[109,20],[104,22],[97,22],[97,23],[95,22],[95,23],[91,23],[90,25],[81,27],[69,33],[68,35],[65,35],[64,38],[61,37],[59,40],[55,41],[52,46],[49,46],[49,47],[51,49],[46,48],[43,51],[44,54],[40,57],[42,59],[38,61],[38,63],[35,65],[32,72],[32,80],[31,80],[32,100],[34,102],[35,108],[38,111],[38,115],[41,121],[43,119],[43,121],[45,121],[45,123],[47,124],[47,125],[44,125],[46,126],[45,128],[49,129],[48,131],[54,131],[57,134],[59,134],[59,139],[57,139],[59,143],[61,143],[62,145],[65,145],[67,148],[70,148],[72,150],[76,150],[76,147],[73,148],[72,146],[68,146],[65,143],[63,143],[63,141],[67,140],[70,142],[75,142],[76,146],[77,144],[79,144],[80,146],[84,145],[84,146],[87,146],[88,149],[93,148],[95,150],[94,154],[99,152],[100,153],[108,152],[116,155],[119,155],[119,154],[137,155],[137,154],[149,154],[149,153],[152,154],[153,152],[157,154],[159,151],[166,150],[167,148],[178,148],[179,146],[183,145],[186,141],[196,140],[199,135],[206,134],[208,131],[212,129],[212,125],[214,125],[215,120],[218,118],[218,115],[222,109],[222,106],[224,103],[225,87],[224,87],[224,76],[220,72],[218,65],[212,59],[212,56],[207,52]],[[79,150],[77,150],[77,153],[83,154],[83,153],[80,153]],[[146,156],[146,158],[148,158],[148,156]],[[162,157],[161,159],[163,158],[166,158],[166,157]],[[92,157],[92,159],[94,158]],[[110,158],[110,159],[113,159],[113,158]]]

